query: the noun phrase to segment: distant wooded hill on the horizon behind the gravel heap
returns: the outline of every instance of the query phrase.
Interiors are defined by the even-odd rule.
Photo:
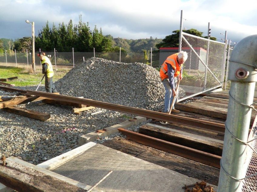
[[[156,48],[157,43],[161,43],[162,39],[157,38],[146,38],[146,39],[122,39],[122,38],[113,38],[111,35],[107,35],[109,39],[112,40],[112,46],[118,46],[122,47],[124,50],[126,50],[128,53],[130,52],[142,52],[142,50],[158,50]]]

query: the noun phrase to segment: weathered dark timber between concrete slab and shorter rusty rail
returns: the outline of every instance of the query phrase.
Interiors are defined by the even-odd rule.
[[[218,185],[219,169],[195,162],[178,155],[144,146],[121,137],[107,140],[102,145],[127,153],[145,161],[160,165],[199,180]]]

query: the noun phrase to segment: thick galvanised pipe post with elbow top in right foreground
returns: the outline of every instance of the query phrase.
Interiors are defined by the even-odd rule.
[[[241,192],[243,183],[240,180],[245,178],[249,165],[249,148],[245,143],[248,141],[252,112],[249,105],[253,103],[257,81],[256,52],[257,35],[252,35],[235,46],[229,60],[231,88],[220,163],[219,192]]]

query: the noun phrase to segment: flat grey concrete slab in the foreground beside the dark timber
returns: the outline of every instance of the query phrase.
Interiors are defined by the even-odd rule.
[[[87,146],[89,143],[83,145]],[[112,170],[95,189],[106,192],[181,191],[184,184],[198,181],[159,165],[96,144],[52,171],[93,185]],[[215,186],[214,186],[215,187]],[[215,187],[217,188],[217,187]]]

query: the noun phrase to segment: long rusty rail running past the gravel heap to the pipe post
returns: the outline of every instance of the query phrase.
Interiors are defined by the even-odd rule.
[[[42,91],[31,91],[31,90],[26,90],[26,91],[27,91],[27,95],[36,95],[36,96],[41,96],[45,98],[55,99],[58,101],[68,101],[68,102],[73,102],[78,104],[85,104],[85,105],[108,109],[112,111],[119,111],[122,113],[139,115],[150,119],[168,121],[170,123],[176,123],[176,124],[183,124],[185,126],[212,131],[222,135],[224,135],[224,132],[225,132],[225,125],[221,123],[213,123],[213,122],[193,119],[189,117],[181,117],[173,114],[165,114],[157,111],[139,109],[139,108],[128,107],[124,105],[106,103],[102,101],[94,101],[94,100],[85,99],[85,98],[76,98],[76,97],[71,97],[66,95],[57,95],[57,94],[46,93]]]

